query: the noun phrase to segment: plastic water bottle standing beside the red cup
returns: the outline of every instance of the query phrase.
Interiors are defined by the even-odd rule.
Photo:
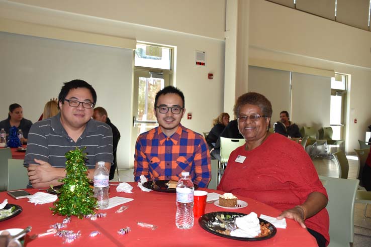
[[[182,172],[179,182],[176,184],[176,215],[175,224],[180,229],[193,227],[194,215],[194,192],[195,187],[189,172]]]

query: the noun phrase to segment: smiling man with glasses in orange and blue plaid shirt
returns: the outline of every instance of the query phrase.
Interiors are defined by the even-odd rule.
[[[185,112],[184,95],[167,86],[155,97],[159,127],[139,135],[135,144],[134,179],[179,180],[190,172],[192,181],[207,187],[211,179],[210,153],[204,137],[180,124]]]

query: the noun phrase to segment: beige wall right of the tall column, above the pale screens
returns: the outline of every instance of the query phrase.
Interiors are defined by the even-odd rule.
[[[351,75],[346,151],[359,148],[357,140],[364,140],[367,126],[371,125],[371,111],[365,106],[371,92],[371,32],[263,0],[250,1],[246,12],[250,13],[249,59]],[[307,107],[311,107],[310,102]]]

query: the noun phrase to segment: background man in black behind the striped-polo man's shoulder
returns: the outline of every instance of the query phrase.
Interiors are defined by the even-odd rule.
[[[114,162],[111,166],[110,170],[110,180],[112,180],[115,176],[115,170],[117,167],[116,163],[116,151],[117,151],[117,145],[119,144],[120,141],[120,132],[114,126],[114,124],[111,122],[110,118],[108,117],[107,110],[103,107],[96,107],[94,108],[94,114],[93,118],[97,121],[105,122],[107,125],[109,125],[112,129],[112,135],[113,135],[113,155],[114,155]]]

